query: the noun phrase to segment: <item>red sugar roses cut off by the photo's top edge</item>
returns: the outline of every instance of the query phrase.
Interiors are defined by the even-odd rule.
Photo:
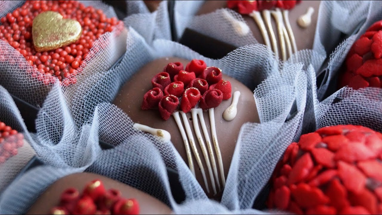
[[[281,8],[285,10],[293,9],[301,1],[296,0],[256,0],[256,1],[227,1],[228,8],[238,8],[240,14],[250,14],[253,11],[271,10]]]

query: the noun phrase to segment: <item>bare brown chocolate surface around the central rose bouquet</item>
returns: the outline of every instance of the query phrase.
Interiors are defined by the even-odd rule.
[[[164,121],[160,117],[159,111],[157,109],[152,109],[152,110],[141,109],[141,104],[142,104],[144,94],[147,91],[152,89],[152,84],[151,84],[152,77],[154,77],[157,73],[162,72],[163,68],[171,62],[181,62],[183,66],[186,67],[186,65],[190,61],[185,59],[175,58],[175,57],[169,57],[169,58],[156,59],[150,62],[146,66],[142,67],[141,70],[136,72],[136,74],[133,77],[131,77],[131,79],[127,81],[124,86],[122,86],[122,88],[120,89],[120,92],[117,94],[113,103],[117,105],[119,108],[121,108],[123,111],[125,111],[128,114],[128,116],[133,120],[133,122],[147,125],[155,129],[167,130],[168,132],[170,132],[172,143],[174,144],[175,148],[178,150],[182,158],[187,163],[185,145],[183,143],[183,138],[181,137],[181,134],[175,122],[175,119],[173,117],[170,117],[170,119],[168,119],[167,121]],[[207,67],[209,66],[214,66],[214,65],[207,65]],[[236,146],[236,140],[237,140],[241,125],[243,125],[245,122],[259,122],[259,117],[257,114],[253,92],[249,90],[246,86],[244,86],[242,83],[235,80],[234,78],[228,77],[227,75],[223,75],[223,79],[231,82],[232,94],[235,91],[240,91],[241,93],[239,101],[238,101],[238,105],[237,105],[237,108],[238,108],[237,115],[235,119],[233,119],[232,121],[226,121],[225,119],[223,119],[223,116],[222,116],[224,110],[231,105],[232,97],[228,100],[223,100],[223,102],[217,108],[215,108],[215,125],[216,125],[217,137],[218,137],[220,151],[222,154],[224,174],[225,174],[225,178],[227,178],[228,169],[230,167],[233,151]],[[212,138],[212,135],[210,132],[209,114],[208,112],[204,112],[203,115],[204,115],[204,120],[206,122],[209,137]],[[194,139],[196,141],[195,144],[196,144],[197,150],[199,151],[199,155],[201,156],[204,169],[206,171],[207,181],[209,183],[209,188],[210,188],[209,196],[212,196],[213,192],[212,192],[212,188],[210,184],[210,178],[207,171],[206,162],[202,155],[199,143],[197,142],[197,139],[196,139],[196,135],[193,128],[193,121],[192,121],[190,112],[187,113],[187,118],[189,119],[188,122],[190,124]],[[204,140],[204,142],[206,143],[206,140]],[[191,152],[191,154],[193,153]],[[201,184],[201,186],[205,189],[206,186],[202,179],[201,171],[199,167],[197,166],[197,162],[196,162],[196,159],[194,158],[194,155],[192,155],[192,157],[193,157],[193,163],[195,167],[196,178]],[[216,156],[215,156],[215,160],[216,160]],[[219,166],[218,166],[218,172],[220,173]]]

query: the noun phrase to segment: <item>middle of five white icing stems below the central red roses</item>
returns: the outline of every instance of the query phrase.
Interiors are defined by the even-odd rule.
[[[193,109],[191,109],[192,121],[193,121],[193,124],[194,124],[194,130],[195,130],[196,138],[197,138],[197,140],[199,142],[200,148],[202,149],[202,153],[203,153],[204,159],[206,160],[207,169],[208,169],[208,173],[210,175],[210,180],[211,180],[211,184],[212,184],[212,189],[214,190],[214,195],[216,195],[215,179],[214,179],[214,175],[212,174],[210,159],[209,159],[209,156],[208,156],[208,153],[207,153],[207,148],[206,148],[206,145],[204,144],[203,137],[202,137],[202,134],[201,134],[200,129],[199,129],[199,123],[198,123],[198,120],[197,120],[197,115],[199,114],[199,111],[201,112],[201,114],[203,116],[203,112],[202,112],[201,108],[198,108],[198,109],[193,108]],[[201,123],[201,125],[203,127],[202,123]],[[204,126],[206,126],[206,125],[204,124]],[[214,155],[212,155],[212,158],[214,158],[213,156]],[[214,166],[214,169],[216,169],[215,162],[213,162],[212,165]]]

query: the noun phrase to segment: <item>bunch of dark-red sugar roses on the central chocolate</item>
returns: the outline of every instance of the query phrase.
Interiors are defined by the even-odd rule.
[[[170,118],[180,103],[187,113],[200,101],[202,109],[216,108],[231,98],[231,83],[222,79],[217,67],[207,67],[203,60],[193,59],[183,70],[180,62],[170,63],[152,78],[153,89],[144,94],[143,110],[158,108],[164,120]],[[179,102],[179,98],[181,101]]]

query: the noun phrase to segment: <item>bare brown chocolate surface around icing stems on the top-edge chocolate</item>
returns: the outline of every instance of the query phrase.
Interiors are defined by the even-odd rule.
[[[296,39],[296,45],[298,50],[312,49],[314,34],[316,32],[319,5],[320,5],[320,1],[318,0],[314,0],[314,1],[303,0],[301,1],[301,3],[297,4],[296,7],[289,10],[289,22]],[[308,28],[301,28],[298,25],[297,20],[299,16],[307,12],[309,7],[314,8],[314,13],[311,16],[311,24],[310,26],[308,26]],[[206,3],[204,3],[202,7],[199,9],[199,11],[197,12],[197,15],[211,13],[220,8],[227,8],[227,1],[217,1],[217,0],[206,1]],[[243,15],[243,18],[248,24],[249,28],[251,29],[253,36],[256,38],[256,40],[259,43],[264,44],[264,39],[262,37],[261,31],[259,30],[259,27],[257,26],[254,19],[248,15]],[[280,49],[280,42],[278,39],[277,25],[273,16],[271,16],[271,21],[272,21],[273,31],[276,36],[276,41],[279,46],[278,52],[280,54],[281,49]]]

